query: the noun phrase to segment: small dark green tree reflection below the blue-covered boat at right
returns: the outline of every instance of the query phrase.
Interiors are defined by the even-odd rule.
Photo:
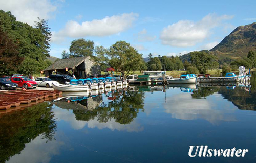
[[[191,94],[192,98],[196,99],[196,98],[206,98],[207,96],[210,96],[212,94],[214,94],[215,92],[217,92],[219,90],[219,87],[201,87],[198,88],[198,90],[194,90],[193,94]]]

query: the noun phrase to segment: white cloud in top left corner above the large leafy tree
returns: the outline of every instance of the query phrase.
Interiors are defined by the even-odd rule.
[[[37,17],[40,19],[50,19],[53,12],[57,10],[57,5],[50,0],[12,0],[0,1],[1,9],[11,11],[18,21],[27,22],[33,26]]]

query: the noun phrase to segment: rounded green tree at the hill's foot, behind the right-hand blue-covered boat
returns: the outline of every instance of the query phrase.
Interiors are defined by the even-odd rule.
[[[217,57],[206,52],[191,52],[191,63],[197,67],[200,73],[206,73],[208,69],[217,68]]]

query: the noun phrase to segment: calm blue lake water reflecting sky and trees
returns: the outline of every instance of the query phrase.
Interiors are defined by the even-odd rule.
[[[256,88],[131,87],[0,117],[0,162],[255,162]],[[189,146],[248,149],[188,156]]]

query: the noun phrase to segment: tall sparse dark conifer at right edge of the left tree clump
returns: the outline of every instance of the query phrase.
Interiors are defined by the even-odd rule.
[[[40,19],[37,17],[39,21],[34,21],[35,23],[35,28],[40,29],[42,35],[44,35],[44,46],[42,49],[44,49],[43,53],[47,55],[47,57],[50,57],[49,50],[50,50],[50,41],[52,37],[52,32],[50,31],[50,28],[48,26],[48,21],[45,19]]]

